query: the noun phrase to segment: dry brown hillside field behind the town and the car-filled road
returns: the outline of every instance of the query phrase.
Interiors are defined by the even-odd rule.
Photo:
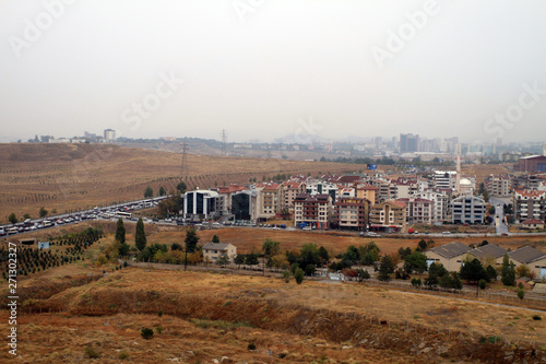
[[[211,188],[261,181],[277,174],[317,176],[346,173],[363,165],[188,154],[188,187]],[[0,144],[0,222],[14,212],[38,218],[40,207],[76,211],[135,200],[144,188],[174,189],[181,155],[100,144]]]

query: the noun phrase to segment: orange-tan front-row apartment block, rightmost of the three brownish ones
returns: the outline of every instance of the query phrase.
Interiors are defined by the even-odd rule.
[[[370,209],[370,228],[376,231],[405,232],[406,206],[393,200],[373,204]]]

